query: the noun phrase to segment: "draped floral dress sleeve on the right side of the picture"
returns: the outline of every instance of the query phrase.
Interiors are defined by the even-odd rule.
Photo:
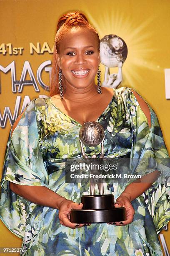
[[[143,193],[157,233],[160,233],[170,220],[170,158],[155,112],[148,105],[151,115],[150,128],[132,90],[127,90],[127,109],[133,130],[131,172],[143,176],[155,170],[160,171],[160,177]]]

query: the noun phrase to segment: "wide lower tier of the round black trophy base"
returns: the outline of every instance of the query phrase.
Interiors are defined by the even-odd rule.
[[[70,221],[72,223],[103,223],[103,222],[120,222],[126,220],[125,207],[113,207],[110,209],[97,210],[72,210]]]

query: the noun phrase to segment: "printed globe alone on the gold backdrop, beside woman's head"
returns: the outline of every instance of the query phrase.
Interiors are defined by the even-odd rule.
[[[106,67],[118,67],[127,55],[128,47],[121,37],[110,34],[100,40],[100,61]]]

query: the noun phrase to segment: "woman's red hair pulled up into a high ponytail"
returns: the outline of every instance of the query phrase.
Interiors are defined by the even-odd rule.
[[[50,79],[50,96],[56,95],[60,93],[59,91],[59,81],[58,81],[58,72],[59,67],[57,65],[56,60],[56,52],[59,53],[59,46],[60,41],[62,40],[63,36],[70,30],[72,27],[84,27],[89,29],[92,33],[95,34],[97,39],[97,48],[98,51],[100,49],[100,39],[99,36],[93,28],[92,25],[88,23],[87,18],[83,13],[75,12],[75,13],[67,13],[63,15],[57,23],[57,32],[55,36],[55,47],[53,53],[53,61],[52,61],[52,72],[51,72],[51,79]],[[62,77],[62,81],[64,82],[64,77]],[[65,90],[65,84],[63,83],[63,91]]]

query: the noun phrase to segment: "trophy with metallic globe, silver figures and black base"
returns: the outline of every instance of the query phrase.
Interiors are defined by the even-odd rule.
[[[104,156],[104,129],[102,125],[95,121],[86,122],[82,125],[79,132],[82,156],[88,161],[85,155],[83,143],[89,147],[95,147],[101,143],[100,159]],[[92,155],[92,159],[97,156]],[[95,185],[97,184],[99,194],[95,195]],[[70,221],[72,223],[104,223],[126,220],[125,207],[114,207],[114,196],[112,194],[104,195],[103,182],[90,179],[90,195],[83,195],[81,210],[70,211]]]

